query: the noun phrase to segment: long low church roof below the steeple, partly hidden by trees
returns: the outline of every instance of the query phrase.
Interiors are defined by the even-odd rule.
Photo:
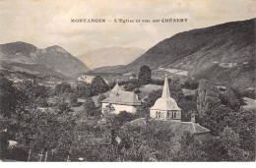
[[[156,125],[161,125],[163,127],[168,127],[170,131],[173,132],[175,136],[183,136],[185,131],[189,132],[191,135],[197,135],[202,133],[210,133],[210,130],[200,126],[197,123],[193,122],[180,122],[180,121],[173,121],[173,120],[153,120],[156,122]],[[133,120],[129,123],[126,123],[122,128],[134,128],[134,127],[146,127],[146,119],[139,118]]]

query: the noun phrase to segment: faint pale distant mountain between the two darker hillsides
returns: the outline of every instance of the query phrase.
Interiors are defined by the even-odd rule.
[[[141,48],[108,47],[89,51],[78,56],[91,69],[116,65],[127,65],[141,56],[145,51]]]

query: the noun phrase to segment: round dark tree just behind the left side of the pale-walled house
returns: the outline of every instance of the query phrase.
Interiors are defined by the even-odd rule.
[[[93,95],[97,95],[99,93],[103,93],[108,90],[108,85],[100,76],[96,76],[96,78],[92,82],[92,86],[93,86]]]

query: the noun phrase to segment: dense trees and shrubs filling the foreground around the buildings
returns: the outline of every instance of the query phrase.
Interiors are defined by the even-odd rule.
[[[140,93],[151,80],[143,68],[138,80],[125,82],[126,90]],[[149,117],[149,108],[161,90],[151,91],[135,114],[101,114],[101,93],[113,85],[97,77],[92,84],[76,87],[63,83],[55,89],[25,81],[13,84],[0,77],[0,158],[20,161],[253,161],[255,160],[255,109],[245,110],[243,97],[255,92],[237,88],[220,89],[206,80],[169,81],[170,94],[182,109],[182,121],[196,122],[211,130],[212,139],[196,140],[184,132],[177,137]],[[184,95],[182,88],[196,89]],[[143,90],[143,89],[142,89]],[[55,101],[48,101],[57,97]],[[86,99],[83,104],[79,98]],[[83,106],[75,113],[72,107]],[[51,107],[41,110],[38,107]],[[129,122],[145,119],[145,127],[125,128]],[[142,123],[141,123],[142,124]],[[17,144],[12,141],[17,141]]]

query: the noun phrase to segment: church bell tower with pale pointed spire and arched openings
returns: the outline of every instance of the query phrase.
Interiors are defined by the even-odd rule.
[[[155,102],[155,105],[151,107],[150,116],[158,120],[181,120],[181,109],[169,94],[167,75],[165,75],[161,97]]]

